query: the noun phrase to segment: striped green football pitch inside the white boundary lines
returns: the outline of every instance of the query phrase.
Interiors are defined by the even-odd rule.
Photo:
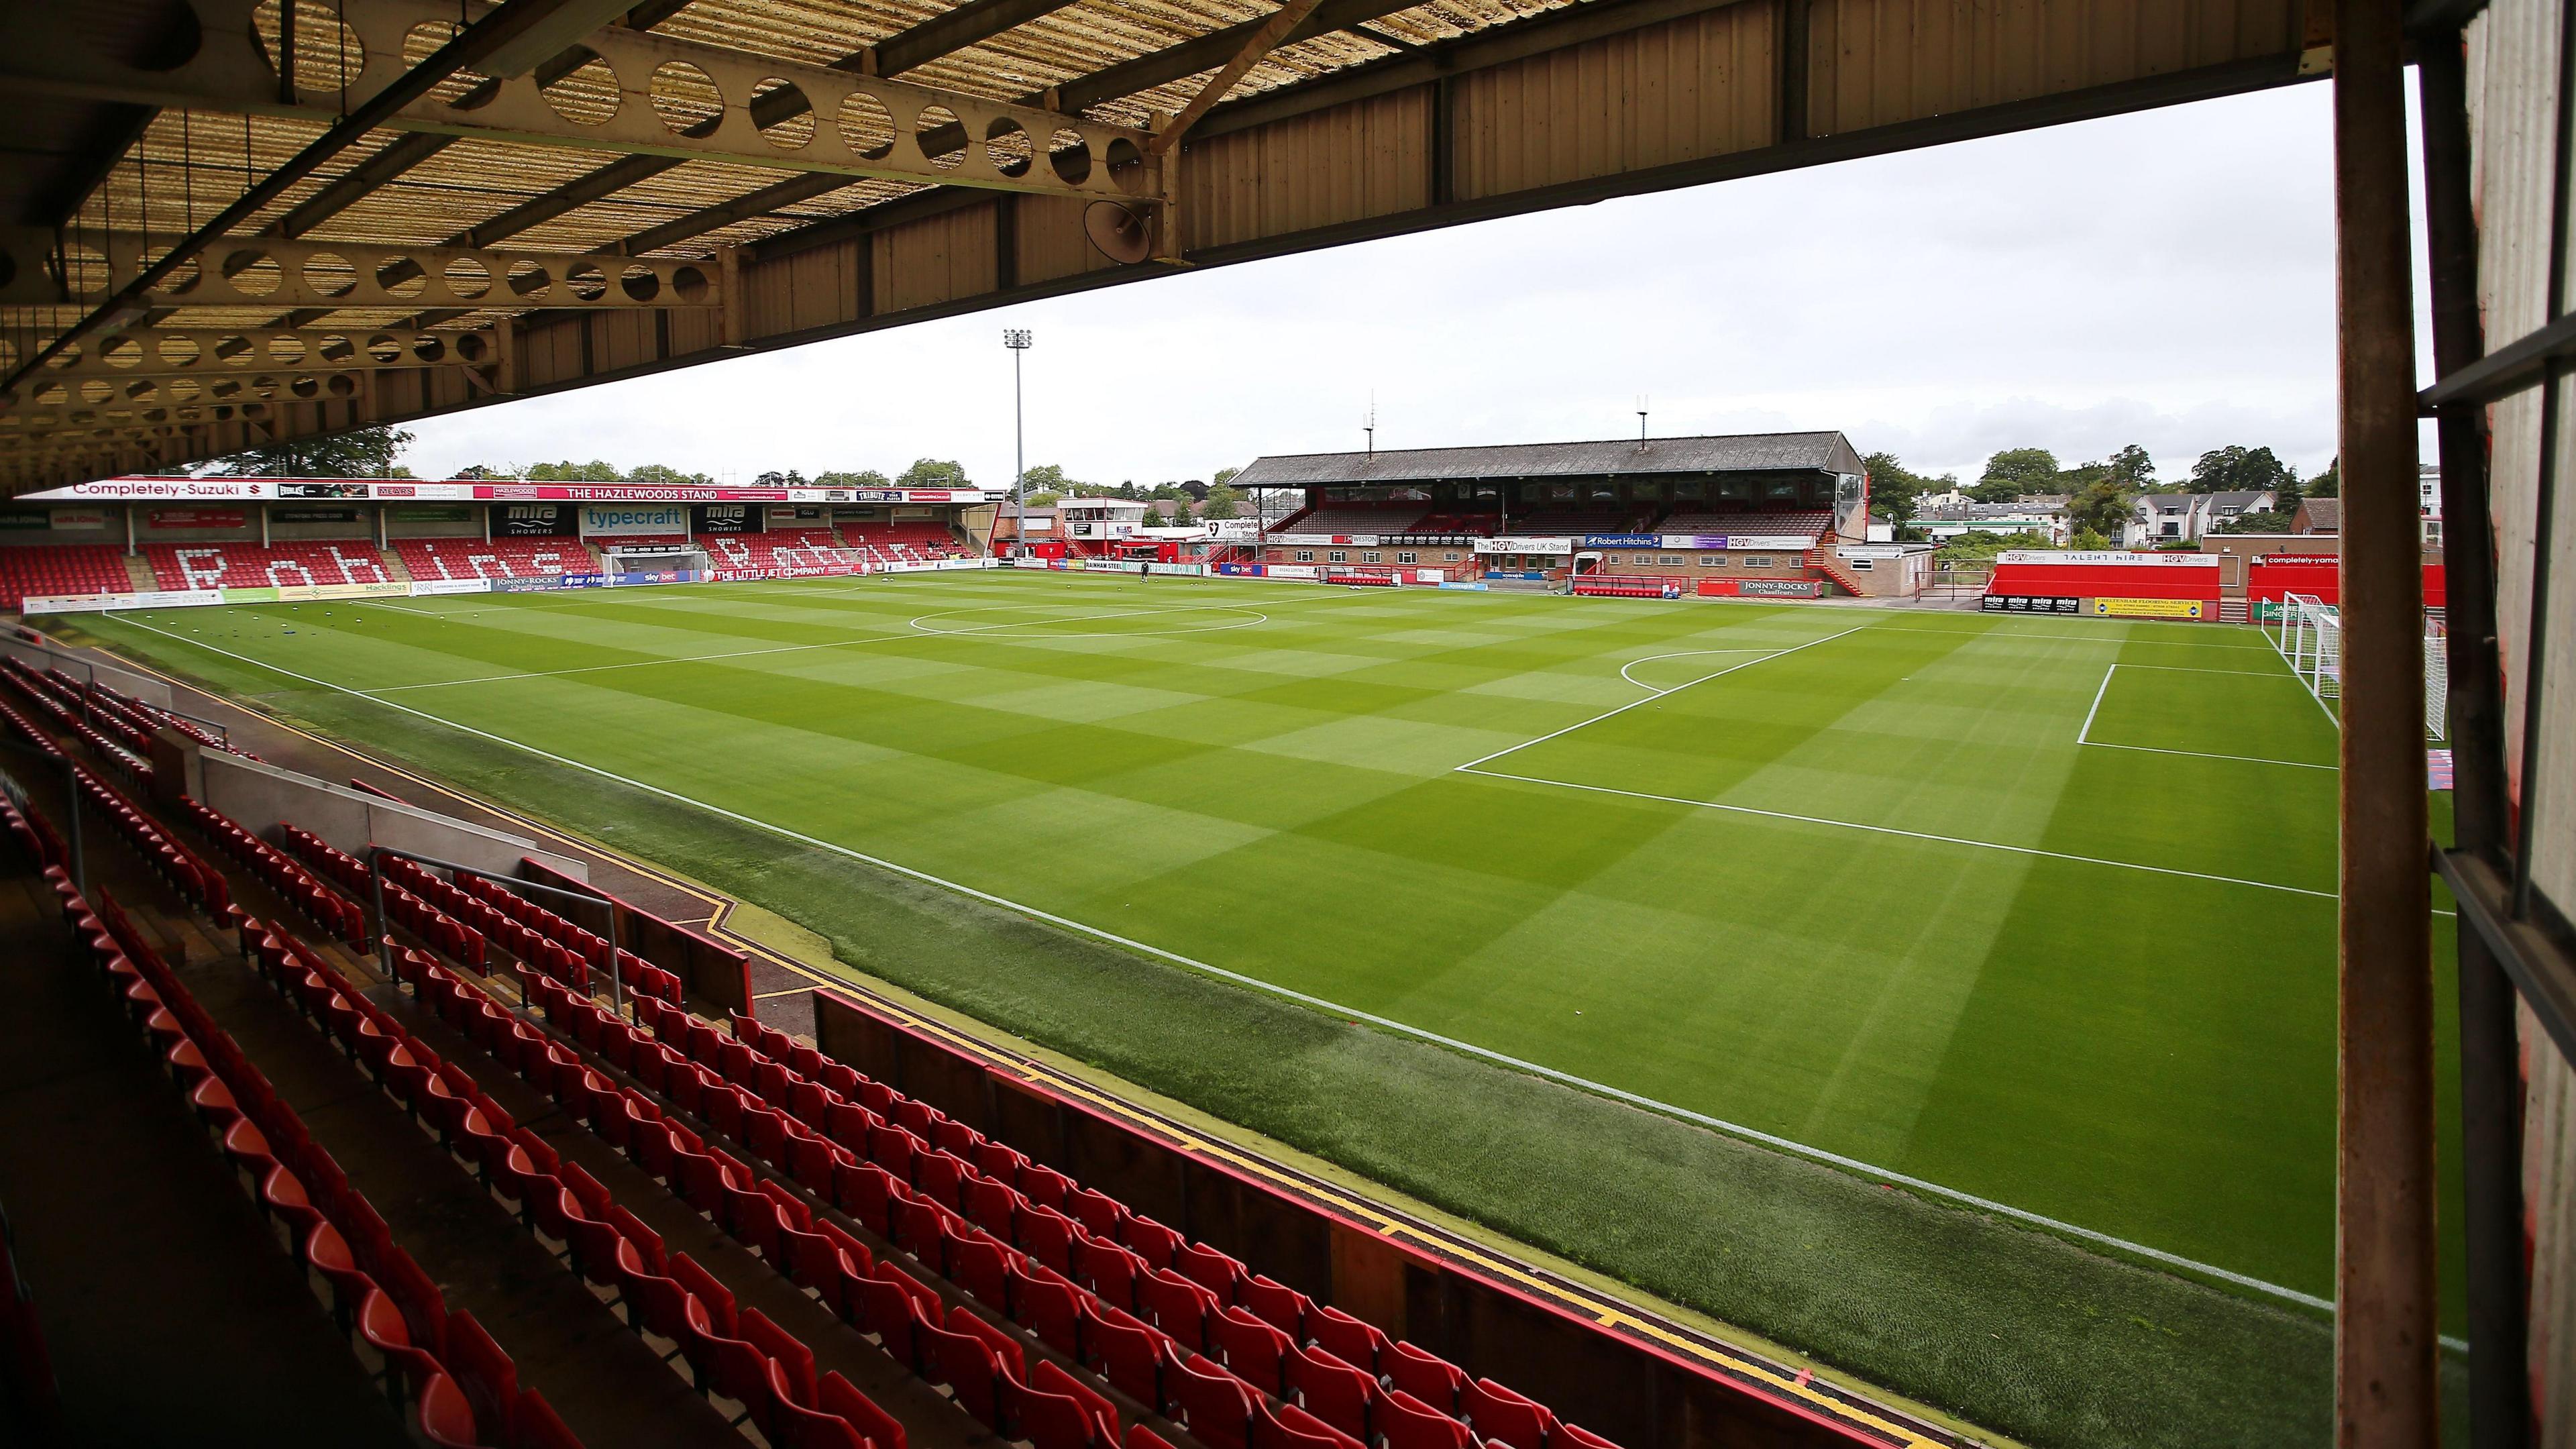
[[[2331,1294],[2336,737],[2254,629],[1023,572],[82,627]]]

